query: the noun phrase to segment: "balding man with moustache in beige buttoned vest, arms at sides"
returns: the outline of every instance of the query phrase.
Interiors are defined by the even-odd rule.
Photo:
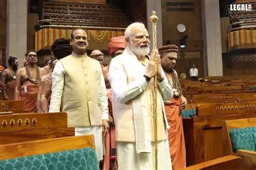
[[[102,68],[97,60],[86,54],[88,40],[84,30],[77,29],[71,33],[70,45],[72,54],[58,60],[52,72],[49,112],[59,112],[62,102],[62,111],[68,114],[68,126],[75,127],[75,135],[94,135],[100,161],[103,159],[102,136],[109,131]]]

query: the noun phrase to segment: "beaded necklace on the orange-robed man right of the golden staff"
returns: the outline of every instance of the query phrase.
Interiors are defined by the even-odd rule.
[[[166,73],[165,73],[165,76],[167,77]],[[172,77],[172,83],[170,82],[170,79],[168,79],[168,77],[167,77],[167,80],[169,84],[172,86],[173,97],[180,98],[182,95],[182,90],[180,87],[178,76],[174,73],[173,69],[171,70],[171,77]]]

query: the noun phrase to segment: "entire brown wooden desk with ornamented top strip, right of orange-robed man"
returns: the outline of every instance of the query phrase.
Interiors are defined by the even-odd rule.
[[[233,110],[228,110],[228,107],[233,107]],[[236,107],[238,109],[234,109]],[[187,166],[227,155],[222,135],[223,121],[256,117],[255,113],[256,102],[200,104],[198,116],[183,118]]]

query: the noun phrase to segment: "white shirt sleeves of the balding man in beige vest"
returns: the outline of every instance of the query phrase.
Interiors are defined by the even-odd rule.
[[[52,72],[52,87],[51,87],[51,102],[49,112],[59,112],[60,103],[62,102],[62,93],[64,88],[65,70],[60,61],[57,61],[55,68]],[[79,79],[79,78],[78,78]],[[103,74],[100,75],[100,86],[105,87]],[[99,88],[102,90],[103,88]],[[100,91],[100,94],[105,94],[104,91]],[[107,108],[107,97],[100,95],[100,109],[102,111],[102,119],[109,118],[109,111]]]

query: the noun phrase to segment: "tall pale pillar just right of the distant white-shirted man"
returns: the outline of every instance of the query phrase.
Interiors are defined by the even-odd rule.
[[[202,0],[205,76],[223,75],[219,0]]]

